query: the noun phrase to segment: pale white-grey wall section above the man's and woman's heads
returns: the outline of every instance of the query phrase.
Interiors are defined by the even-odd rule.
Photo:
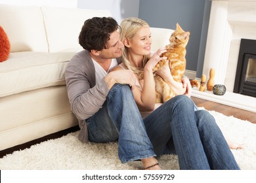
[[[110,10],[118,23],[130,16],[139,16],[140,0],[77,0],[78,8]]]

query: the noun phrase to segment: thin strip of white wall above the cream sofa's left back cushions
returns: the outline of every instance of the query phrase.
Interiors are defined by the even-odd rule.
[[[77,0],[0,0],[0,4],[76,8]]]

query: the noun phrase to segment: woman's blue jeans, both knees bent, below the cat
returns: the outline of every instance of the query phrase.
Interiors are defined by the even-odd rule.
[[[195,110],[186,95],[170,99],[144,118],[158,156],[176,152],[180,169],[240,169],[215,119]]]

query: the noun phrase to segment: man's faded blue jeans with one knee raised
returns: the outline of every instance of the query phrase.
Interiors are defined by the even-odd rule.
[[[90,141],[118,139],[118,156],[122,163],[156,156],[131,88],[126,84],[115,84],[102,108],[86,122]]]

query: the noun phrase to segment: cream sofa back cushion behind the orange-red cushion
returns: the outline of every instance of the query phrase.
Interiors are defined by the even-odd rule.
[[[0,25],[9,37],[11,52],[49,52],[41,8],[0,4]]]

